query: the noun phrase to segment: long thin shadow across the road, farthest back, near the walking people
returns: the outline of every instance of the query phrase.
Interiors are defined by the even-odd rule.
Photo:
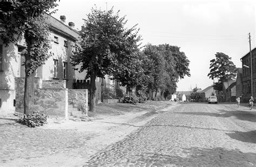
[[[245,111],[245,110],[219,110],[219,113],[205,113],[205,112],[175,112],[175,114],[187,114],[187,115],[203,115],[203,116],[214,116],[214,117],[231,117],[235,116],[239,120],[256,122],[256,112],[255,111]]]

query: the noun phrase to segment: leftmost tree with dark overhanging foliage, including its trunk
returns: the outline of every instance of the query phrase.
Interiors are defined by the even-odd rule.
[[[7,46],[16,44],[22,37],[26,42],[24,114],[33,112],[33,83],[36,69],[50,57],[49,28],[43,14],[55,8],[57,0],[16,0],[0,2],[2,40]],[[53,11],[54,12],[54,11]]]

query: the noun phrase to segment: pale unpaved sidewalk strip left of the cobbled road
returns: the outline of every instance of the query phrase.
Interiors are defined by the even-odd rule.
[[[3,148],[0,166],[84,165],[99,150],[122,140],[160,112],[179,104],[168,101],[159,105],[162,107],[157,103],[142,106],[117,104],[117,108],[115,105],[100,105],[100,114],[90,113],[93,115],[89,117],[91,121],[49,119],[48,124],[38,128],[26,128],[5,117],[0,119],[5,122],[0,126],[0,133],[4,135],[4,144],[0,143]]]

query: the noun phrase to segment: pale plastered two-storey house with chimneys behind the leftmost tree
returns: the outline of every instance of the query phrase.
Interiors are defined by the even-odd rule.
[[[36,71],[37,78],[42,80],[65,80],[65,87],[72,88],[76,71],[72,69],[70,57],[73,44],[79,37],[78,31],[73,29],[72,22],[65,24],[65,17],[58,20],[49,15],[44,15],[46,23],[50,24],[50,38],[52,39],[52,57]],[[0,34],[1,35],[1,34]],[[25,40],[8,47],[0,40],[0,112],[14,112],[16,105],[15,79],[25,77],[22,66],[25,61],[21,52],[26,48]]]

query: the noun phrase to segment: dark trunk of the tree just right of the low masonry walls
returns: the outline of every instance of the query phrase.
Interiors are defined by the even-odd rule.
[[[90,111],[96,112],[95,99],[96,99],[96,71],[91,73],[91,88],[90,88]]]

